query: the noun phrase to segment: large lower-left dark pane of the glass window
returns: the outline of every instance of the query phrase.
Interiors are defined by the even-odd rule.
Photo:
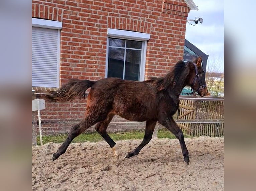
[[[108,52],[108,77],[123,79],[124,49],[109,47]]]

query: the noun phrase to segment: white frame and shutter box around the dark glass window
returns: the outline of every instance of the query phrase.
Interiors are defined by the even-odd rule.
[[[105,78],[108,77],[108,47],[109,47],[109,38],[117,38],[124,40],[134,40],[141,41],[141,63],[140,63],[140,72],[139,72],[139,81],[145,80],[145,67],[146,67],[146,53],[147,53],[147,41],[150,39],[150,34],[148,33],[139,33],[134,31],[125,31],[118,29],[108,29],[107,31],[107,51],[106,51],[106,71]]]

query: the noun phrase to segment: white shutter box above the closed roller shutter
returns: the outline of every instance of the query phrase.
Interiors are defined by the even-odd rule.
[[[32,18],[32,26],[48,29],[62,29],[62,22]]]

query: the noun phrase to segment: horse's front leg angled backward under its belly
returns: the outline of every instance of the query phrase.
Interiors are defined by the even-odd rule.
[[[156,121],[147,121],[146,122],[146,128],[145,128],[145,134],[143,141],[140,143],[139,146],[137,146],[133,151],[128,152],[125,156],[125,158],[130,158],[132,156],[138,155],[141,149],[149,143],[149,141],[152,139],[152,135],[155,129]]]

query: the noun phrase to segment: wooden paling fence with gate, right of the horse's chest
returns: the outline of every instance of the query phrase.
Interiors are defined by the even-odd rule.
[[[224,136],[224,97],[180,96],[174,119],[190,136]]]

